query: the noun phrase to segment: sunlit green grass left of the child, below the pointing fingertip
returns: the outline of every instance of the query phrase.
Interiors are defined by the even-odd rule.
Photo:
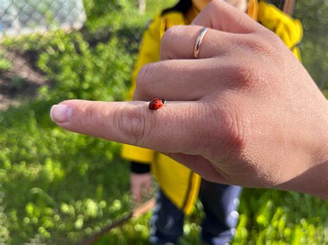
[[[129,170],[118,144],[64,132],[42,119],[49,107],[1,113],[2,225],[11,244],[36,234],[56,244],[77,242],[129,209]]]

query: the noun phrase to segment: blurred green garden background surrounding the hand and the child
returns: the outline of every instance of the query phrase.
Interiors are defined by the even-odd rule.
[[[125,99],[147,23],[174,0],[0,0],[0,244],[75,244],[134,208],[120,145],[49,118],[64,99]],[[328,96],[328,1],[296,1],[302,62]],[[181,244],[200,244],[201,203]],[[95,244],[147,244],[150,212]],[[244,189],[233,244],[327,244],[328,202]]]

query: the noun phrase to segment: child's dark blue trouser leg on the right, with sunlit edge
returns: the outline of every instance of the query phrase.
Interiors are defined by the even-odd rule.
[[[240,186],[227,186],[201,179],[199,198],[206,214],[201,237],[207,244],[230,242],[237,226]]]

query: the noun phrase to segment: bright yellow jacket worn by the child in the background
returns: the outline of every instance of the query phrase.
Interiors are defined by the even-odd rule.
[[[298,47],[295,47],[302,39],[302,25],[281,10],[265,2],[250,1],[248,14],[257,19],[268,29],[273,30],[286,46],[300,58]],[[136,68],[131,77],[131,88],[127,99],[131,100],[136,88],[136,77],[142,66],[159,60],[161,37],[165,30],[176,25],[185,25],[185,17],[181,12],[170,11],[159,14],[149,24],[140,44],[139,56]],[[189,168],[178,162],[145,148],[123,145],[122,157],[130,161],[151,164],[152,173],[160,184],[161,189],[170,200],[185,214],[190,214],[197,200],[201,177],[193,173]]]

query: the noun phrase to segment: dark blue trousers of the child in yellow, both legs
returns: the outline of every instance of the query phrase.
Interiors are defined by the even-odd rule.
[[[237,208],[242,188],[201,179],[199,199],[206,214],[201,224],[201,239],[207,244],[226,244],[233,237],[238,221]],[[176,244],[183,235],[185,215],[168,199],[162,190],[156,197],[156,206],[150,219],[152,244]]]

